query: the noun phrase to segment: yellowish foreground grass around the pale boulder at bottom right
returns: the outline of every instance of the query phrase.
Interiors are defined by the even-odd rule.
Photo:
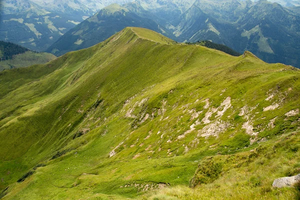
[[[211,183],[199,184],[195,188],[175,186],[141,196],[141,199],[297,199],[297,188],[273,188],[276,176],[290,176],[298,172],[299,151],[291,145],[299,142],[295,132],[260,143],[254,150],[234,155],[216,155],[208,158],[209,163],[222,163],[219,178]],[[290,152],[292,153],[292,156]],[[199,164],[198,170],[207,167],[207,159]],[[207,168],[206,168],[207,169]],[[197,171],[198,171],[197,170]],[[211,170],[211,168],[210,168]],[[198,177],[196,171],[195,177]],[[205,171],[205,170],[204,170]],[[293,172],[292,172],[293,171]],[[292,173],[290,173],[292,172]],[[200,183],[198,181],[198,183]]]

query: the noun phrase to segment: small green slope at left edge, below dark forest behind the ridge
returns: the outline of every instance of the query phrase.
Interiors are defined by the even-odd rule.
[[[54,58],[56,56],[51,53],[27,51],[19,55],[14,55],[12,59],[0,61],[0,70],[30,66],[32,64],[44,64]]]

